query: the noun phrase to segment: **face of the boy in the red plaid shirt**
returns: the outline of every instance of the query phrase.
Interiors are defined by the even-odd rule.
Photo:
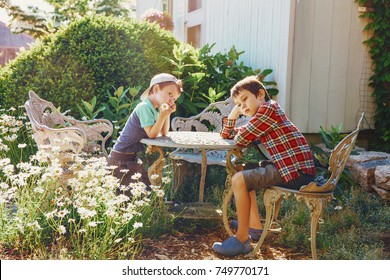
[[[241,115],[253,117],[261,104],[265,102],[264,90],[259,90],[256,97],[250,91],[242,90],[238,96],[233,97],[233,101],[239,109]]]

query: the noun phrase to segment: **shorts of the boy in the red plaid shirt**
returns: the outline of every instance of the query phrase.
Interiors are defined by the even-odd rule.
[[[285,182],[280,176],[274,164],[266,164],[262,167],[241,171],[244,176],[248,191],[266,189],[279,186],[287,189],[299,190],[302,186],[314,181],[315,176],[299,171],[300,176],[289,182]]]

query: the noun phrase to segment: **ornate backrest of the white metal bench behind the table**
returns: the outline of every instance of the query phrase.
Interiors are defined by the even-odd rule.
[[[222,119],[227,117],[234,107],[233,100],[229,97],[225,101],[211,103],[201,113],[189,117],[175,117],[172,119],[173,131],[212,131],[221,132]],[[236,126],[241,126],[249,121],[249,117],[240,117]]]

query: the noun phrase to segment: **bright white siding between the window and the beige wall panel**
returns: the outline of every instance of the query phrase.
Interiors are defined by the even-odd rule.
[[[203,42],[216,43],[213,51],[232,46],[244,51],[241,60],[253,68],[271,68],[278,82],[277,100],[287,107],[290,0],[203,1],[206,11]],[[288,112],[289,108],[286,108]]]

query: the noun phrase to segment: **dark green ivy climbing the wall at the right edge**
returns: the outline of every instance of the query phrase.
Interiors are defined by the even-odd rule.
[[[370,77],[370,86],[374,89],[376,112],[376,142],[374,147],[390,152],[390,2],[388,0],[355,0],[361,6],[369,3],[366,13],[361,17],[368,19],[366,31],[372,37],[365,41],[370,48],[374,74]]]

